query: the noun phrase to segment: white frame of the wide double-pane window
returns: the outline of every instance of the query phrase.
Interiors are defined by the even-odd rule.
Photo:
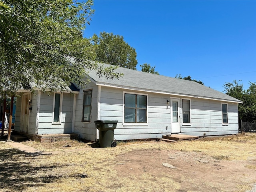
[[[133,94],[133,95],[143,95],[146,96],[146,104],[147,104],[147,108],[146,108],[146,122],[124,122],[124,110],[125,110],[125,105],[124,105],[124,98],[125,98],[125,94]],[[135,110],[136,111],[136,110]],[[136,115],[136,112],[135,112]],[[148,94],[144,94],[144,93],[138,93],[138,92],[123,92],[123,126],[147,126],[148,125]]]

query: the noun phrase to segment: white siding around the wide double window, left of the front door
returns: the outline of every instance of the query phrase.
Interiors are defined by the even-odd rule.
[[[162,137],[170,133],[170,106],[167,107],[168,95],[148,95],[148,125],[124,126],[123,125],[123,92],[117,88],[101,88],[100,120],[118,120],[114,130],[116,140],[130,140],[142,138]],[[145,92],[136,92],[138,94]],[[166,129],[166,126],[168,128]]]

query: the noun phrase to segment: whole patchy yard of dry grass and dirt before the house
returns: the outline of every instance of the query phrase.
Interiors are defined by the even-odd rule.
[[[78,141],[23,144],[53,152],[23,153],[1,142],[3,192],[245,192],[256,184],[255,133],[118,142],[116,148]]]

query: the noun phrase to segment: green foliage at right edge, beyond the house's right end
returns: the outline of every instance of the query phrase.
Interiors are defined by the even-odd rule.
[[[243,103],[238,104],[239,120],[244,122],[256,122],[256,82],[250,82],[247,90],[243,89],[243,84],[234,80],[233,83],[225,83],[226,94],[241,100]]]

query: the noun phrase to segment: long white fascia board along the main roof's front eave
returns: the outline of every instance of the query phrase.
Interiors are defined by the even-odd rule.
[[[111,84],[96,83],[96,85],[112,87],[112,88],[123,88],[123,89],[128,89],[128,90],[144,91],[144,92],[150,92],[150,93],[167,94],[167,95],[180,96],[180,97],[190,97],[190,98],[198,98],[198,99],[210,99],[210,100],[215,100],[215,101],[243,103],[240,101],[224,100],[224,99],[201,97],[201,96],[194,96],[194,95],[177,94],[177,93],[170,93],[170,92],[153,91],[153,90],[139,89],[139,88],[133,88],[133,87],[127,87],[127,86],[116,86],[116,85],[111,85]]]

